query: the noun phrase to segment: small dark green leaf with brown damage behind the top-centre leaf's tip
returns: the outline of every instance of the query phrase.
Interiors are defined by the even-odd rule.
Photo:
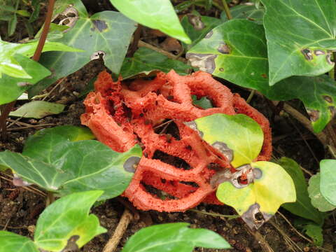
[[[206,36],[211,29],[216,26],[221,25],[222,21],[218,18],[211,18],[207,16],[197,16],[197,15],[185,15],[181,20],[181,25],[183,26],[186,34],[191,39],[192,43],[187,45],[183,43],[184,48],[189,50],[196,43],[200,42],[204,36]]]

